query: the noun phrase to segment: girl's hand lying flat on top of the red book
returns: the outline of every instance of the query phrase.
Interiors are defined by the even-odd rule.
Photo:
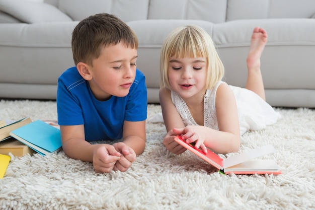
[[[205,131],[205,127],[201,125],[188,125],[184,128],[174,128],[175,132],[182,133],[182,139],[186,141],[186,143],[195,142],[195,148],[202,150],[205,154],[207,154],[207,148],[203,144],[206,140],[207,132]]]

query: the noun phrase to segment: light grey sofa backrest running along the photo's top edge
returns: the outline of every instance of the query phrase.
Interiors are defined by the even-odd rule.
[[[310,18],[315,0],[44,0],[74,21],[96,13],[114,14],[125,22],[146,19],[204,20]]]

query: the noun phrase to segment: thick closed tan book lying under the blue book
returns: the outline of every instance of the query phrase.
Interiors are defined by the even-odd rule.
[[[25,154],[33,155],[35,151],[27,145],[19,142],[17,139],[11,137],[6,141],[0,142],[0,154],[9,155],[12,153],[14,156],[22,157]]]

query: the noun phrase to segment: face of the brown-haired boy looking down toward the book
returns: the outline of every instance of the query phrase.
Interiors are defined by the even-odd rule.
[[[89,84],[95,98],[104,101],[111,96],[126,96],[135,78],[136,60],[137,50],[123,42],[103,48],[90,66]]]

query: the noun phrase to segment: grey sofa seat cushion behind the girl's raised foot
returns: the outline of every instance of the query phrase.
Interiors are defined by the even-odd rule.
[[[315,19],[257,19],[237,20],[214,25],[213,40],[218,47],[249,46],[257,26],[268,33],[271,46],[315,45]]]

